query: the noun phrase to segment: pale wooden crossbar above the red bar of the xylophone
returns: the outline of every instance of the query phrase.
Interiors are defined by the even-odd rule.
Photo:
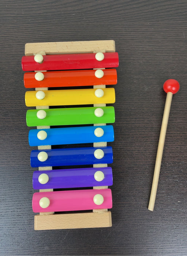
[[[44,51],[46,54],[115,52],[114,40],[27,43],[25,56]]]

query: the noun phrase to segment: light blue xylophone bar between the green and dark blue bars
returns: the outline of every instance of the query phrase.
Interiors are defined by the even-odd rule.
[[[104,134],[102,137],[97,137],[94,134],[95,129],[98,127],[102,128],[104,131]],[[47,133],[47,138],[45,140],[39,140],[37,138],[37,133],[39,131],[45,131]],[[33,129],[33,130],[30,130],[28,133],[28,142],[30,146],[112,142],[112,141],[114,141],[114,129],[112,125]]]

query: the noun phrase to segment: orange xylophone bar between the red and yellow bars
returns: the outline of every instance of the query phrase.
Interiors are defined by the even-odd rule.
[[[66,86],[93,86],[100,84],[117,84],[116,69],[103,69],[102,78],[95,76],[95,70],[71,70],[42,72],[44,79],[35,79],[36,72],[24,74],[24,86],[26,88],[37,87],[66,87]]]

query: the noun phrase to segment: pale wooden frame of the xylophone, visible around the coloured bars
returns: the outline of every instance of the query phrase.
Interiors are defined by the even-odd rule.
[[[25,55],[31,56],[37,53],[44,54],[65,54],[65,53],[96,53],[96,52],[115,52],[115,41],[78,41],[78,42],[46,42],[46,43],[28,43],[25,45]],[[93,88],[105,88],[105,85],[96,85]],[[42,90],[36,88],[35,90]],[[45,88],[47,90],[47,88]],[[106,104],[95,104],[94,106],[106,106]],[[41,106],[37,106],[37,109]],[[47,108],[47,106],[45,107]],[[106,124],[96,124],[106,125]],[[37,127],[38,129],[50,127]],[[95,147],[106,146],[106,142],[94,143]],[[47,149],[49,146],[39,146],[38,149]],[[93,167],[106,167],[107,164],[93,165]],[[39,170],[50,170],[52,167],[39,167]],[[104,189],[105,187],[93,187],[93,189]],[[40,189],[40,192],[43,190]],[[53,191],[53,189],[45,189]],[[80,212],[70,214],[54,214],[53,212],[43,212],[35,215],[35,230],[48,229],[76,229],[91,227],[111,227],[111,212],[107,209],[93,210],[93,212]]]

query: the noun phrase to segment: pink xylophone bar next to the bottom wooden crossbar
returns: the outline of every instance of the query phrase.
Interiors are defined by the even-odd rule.
[[[93,197],[96,194],[100,194],[104,198],[104,202],[100,205],[93,202]],[[47,197],[50,200],[50,204],[47,208],[42,208],[39,205],[39,200],[42,197]],[[110,208],[112,208],[111,189],[38,192],[33,195],[34,212],[81,211]]]

